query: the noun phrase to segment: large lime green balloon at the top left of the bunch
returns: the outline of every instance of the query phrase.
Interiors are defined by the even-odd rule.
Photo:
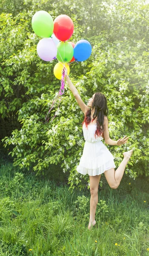
[[[42,38],[51,37],[54,29],[51,15],[45,11],[36,12],[32,17],[32,28],[35,34]]]

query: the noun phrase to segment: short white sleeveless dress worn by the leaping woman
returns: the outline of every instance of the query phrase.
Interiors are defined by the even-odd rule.
[[[88,129],[87,129],[88,128]],[[103,137],[97,137],[95,139],[95,131],[97,124],[88,125],[86,128],[83,124],[83,136],[85,144],[83,148],[83,154],[80,158],[80,163],[77,166],[77,172],[83,175],[100,175],[101,173],[115,168],[115,157],[111,154],[109,149],[103,144]]]

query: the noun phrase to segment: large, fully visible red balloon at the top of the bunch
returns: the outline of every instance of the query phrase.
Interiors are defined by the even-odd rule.
[[[60,41],[67,41],[74,32],[74,24],[72,19],[67,15],[59,15],[54,20],[54,35]]]

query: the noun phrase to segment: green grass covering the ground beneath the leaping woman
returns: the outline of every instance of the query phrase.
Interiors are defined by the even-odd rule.
[[[117,189],[101,180],[88,230],[87,188],[71,194],[1,161],[0,256],[149,256],[149,177],[124,174]]]

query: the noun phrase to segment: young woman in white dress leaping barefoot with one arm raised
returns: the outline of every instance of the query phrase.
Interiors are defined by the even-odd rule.
[[[64,68],[64,70],[70,90],[85,116],[83,121],[85,144],[83,155],[80,158],[79,166],[77,166],[77,172],[83,175],[89,175],[91,198],[88,228],[90,230],[91,227],[96,224],[95,212],[98,203],[98,186],[101,174],[104,172],[109,186],[112,189],[117,189],[133,150],[123,153],[123,160],[115,170],[114,157],[103,144],[102,140],[104,139],[105,143],[109,145],[123,145],[127,143],[129,137],[124,136],[117,141],[110,139],[107,117],[109,111],[105,95],[102,93],[94,93],[86,105],[82,101],[77,89],[72,84],[72,81],[69,79],[66,68]]]

